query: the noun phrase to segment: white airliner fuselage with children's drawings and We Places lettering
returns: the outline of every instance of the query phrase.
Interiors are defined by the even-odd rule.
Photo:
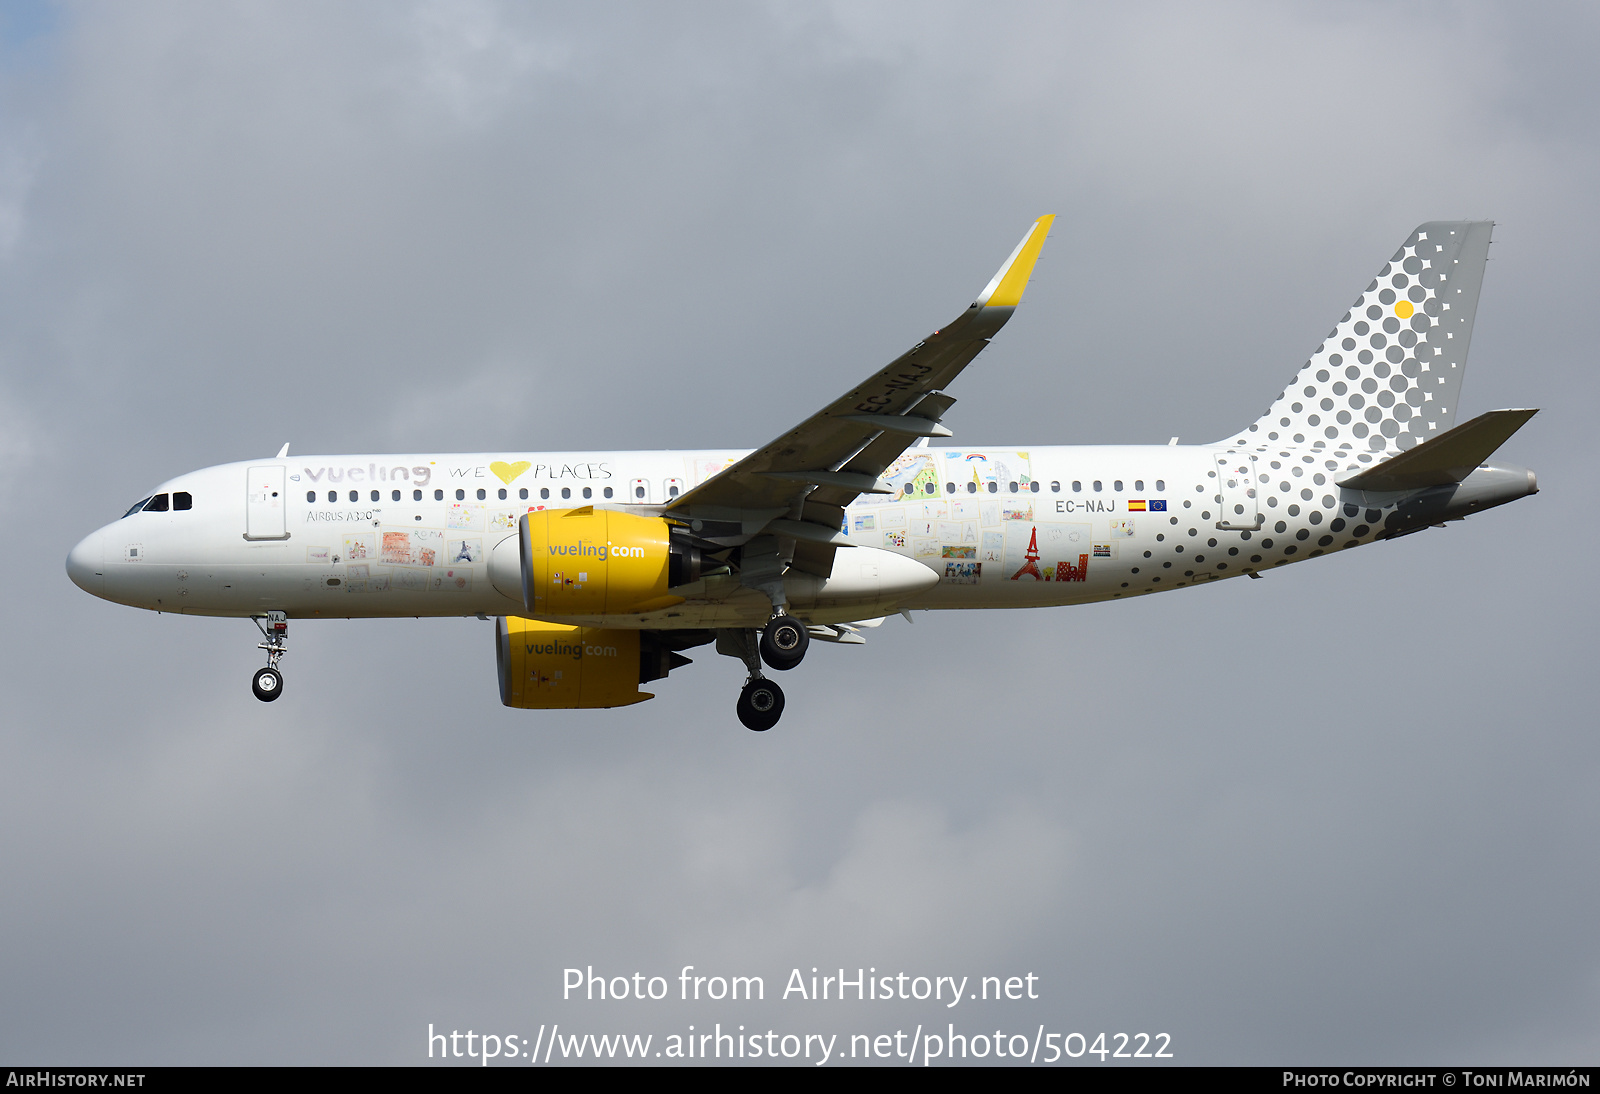
[[[182,614],[522,614],[506,544],[515,542],[523,513],[597,505],[653,515],[742,456],[485,453],[224,464],[162,483],[152,493],[170,499],[160,512],[147,507],[91,533],[67,569],[106,600]],[[1246,462],[1230,469],[1229,459]],[[794,574],[790,603],[818,624],[901,609],[1088,603],[1237,577],[1424,526],[1406,523],[1398,497],[1334,485],[1350,473],[1347,465],[1362,467],[1347,453],[1299,448],[914,448],[885,473],[893,493],[866,494],[845,513],[842,533],[854,549],[838,549],[834,577],[854,579],[854,566],[874,566],[885,571],[878,584],[835,582],[837,595],[826,597]],[[1446,497],[1426,523],[1534,489],[1520,469],[1480,469],[1456,491],[1475,501],[1456,512]],[[189,507],[174,509],[182,494]],[[603,622],[755,627],[771,614],[768,598],[736,574],[674,592],[682,605]]]

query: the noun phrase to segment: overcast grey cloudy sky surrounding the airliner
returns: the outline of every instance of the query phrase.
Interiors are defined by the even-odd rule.
[[[0,6],[0,1060],[426,1062],[427,1025],[1170,1033],[1594,1064],[1590,5]],[[1494,219],[1462,419],[1542,493],[1173,597],[893,619],[768,734],[707,649],[501,707],[478,621],[62,571],[298,453],[755,446],[1056,213],[955,443],[1254,421],[1430,219]],[[562,1001],[562,971],[766,1001]],[[824,1004],[790,969],[1038,977]],[[1093,1057],[1088,1057],[1093,1059]],[[990,1057],[992,1060],[992,1057]]]

